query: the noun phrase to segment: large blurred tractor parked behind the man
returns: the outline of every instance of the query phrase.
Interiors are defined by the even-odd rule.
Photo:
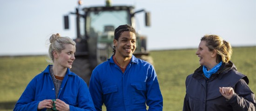
[[[150,26],[149,12],[134,12],[134,6],[111,6],[109,0],[106,6],[76,8],[76,12],[69,13],[76,15],[77,30],[75,61],[71,71],[89,84],[92,70],[113,55],[115,28],[128,24],[136,30],[135,14],[139,12],[145,12],[146,26]],[[65,29],[68,29],[68,15],[64,16],[64,22]],[[153,64],[147,51],[147,37],[136,36],[137,48],[133,55]]]

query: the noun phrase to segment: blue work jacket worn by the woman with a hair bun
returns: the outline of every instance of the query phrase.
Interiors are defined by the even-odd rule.
[[[13,111],[38,111],[40,101],[56,99],[49,67],[50,65],[29,82]],[[78,75],[70,72],[69,68],[61,83],[58,99],[68,104],[70,111],[95,111],[87,84]]]

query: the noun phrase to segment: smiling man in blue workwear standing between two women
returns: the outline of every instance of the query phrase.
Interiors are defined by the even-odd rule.
[[[115,29],[114,55],[92,73],[89,91],[97,111],[162,111],[163,99],[153,66],[133,56],[135,29]]]

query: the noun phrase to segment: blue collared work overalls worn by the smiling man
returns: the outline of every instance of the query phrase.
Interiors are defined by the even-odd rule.
[[[163,99],[153,66],[132,56],[122,73],[113,57],[92,73],[89,91],[97,111],[162,111]]]

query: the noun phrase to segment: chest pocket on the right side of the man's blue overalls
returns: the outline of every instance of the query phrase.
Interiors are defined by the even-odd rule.
[[[145,104],[146,102],[146,82],[132,82],[132,101],[134,104]]]

